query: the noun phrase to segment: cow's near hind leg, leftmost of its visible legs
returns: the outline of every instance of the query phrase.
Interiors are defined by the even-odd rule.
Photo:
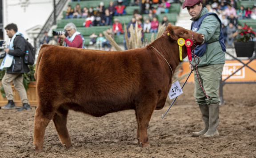
[[[40,110],[40,106],[36,108],[35,121],[34,121],[34,140],[33,145],[36,154],[43,151],[44,133],[54,113],[47,113],[47,115]]]

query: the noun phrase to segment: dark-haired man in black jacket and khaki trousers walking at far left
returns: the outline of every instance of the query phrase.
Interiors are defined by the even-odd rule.
[[[26,49],[26,41],[23,35],[18,32],[16,24],[8,24],[5,28],[7,36],[11,39],[8,48],[4,49],[6,53],[0,69],[3,70],[6,68],[4,77],[2,79],[2,85],[8,99],[8,103],[2,107],[4,110],[16,109],[15,103],[13,102],[13,92],[11,82],[13,82],[15,89],[20,95],[22,100],[23,107],[17,111],[22,111],[23,109],[30,110],[28,103],[27,92],[23,85],[23,73],[28,73],[29,68],[24,61],[24,52]],[[6,65],[6,63],[10,63]]]

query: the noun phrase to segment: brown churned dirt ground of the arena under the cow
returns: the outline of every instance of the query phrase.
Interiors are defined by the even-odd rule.
[[[68,130],[74,148],[66,151],[51,121],[44,152],[35,155],[31,111],[0,110],[0,158],[256,158],[256,84],[226,84],[220,107],[219,138],[191,137],[203,127],[193,97],[194,84],[184,86],[163,120],[168,105],[154,111],[148,127],[150,147],[136,142],[134,111],[95,118],[74,111]]]

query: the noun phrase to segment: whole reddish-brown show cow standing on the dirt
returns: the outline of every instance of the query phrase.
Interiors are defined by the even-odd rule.
[[[60,141],[67,150],[72,147],[66,126],[69,110],[100,117],[133,109],[138,143],[149,146],[148,123],[153,111],[164,107],[173,72],[180,63],[179,38],[191,39],[192,31],[168,25],[148,46],[127,51],[43,45],[35,73],[39,96],[34,123],[36,153],[43,150],[44,132],[51,119]],[[193,32],[192,40],[199,45],[204,36]],[[182,57],[186,56],[184,46]]]

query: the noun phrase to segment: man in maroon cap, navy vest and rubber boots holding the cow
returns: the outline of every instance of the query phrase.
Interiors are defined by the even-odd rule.
[[[187,8],[189,15],[192,17],[191,30],[204,35],[204,44],[197,46],[194,51],[200,60],[192,59],[189,65],[189,68],[194,70],[195,67],[192,65],[200,61],[197,65],[200,82],[196,71],[194,71],[194,97],[204,120],[204,129],[193,132],[192,136],[216,137],[219,136],[217,130],[220,109],[218,89],[226,51],[222,24],[215,13],[209,13],[207,8],[202,6],[202,0],[185,0],[182,8]]]

